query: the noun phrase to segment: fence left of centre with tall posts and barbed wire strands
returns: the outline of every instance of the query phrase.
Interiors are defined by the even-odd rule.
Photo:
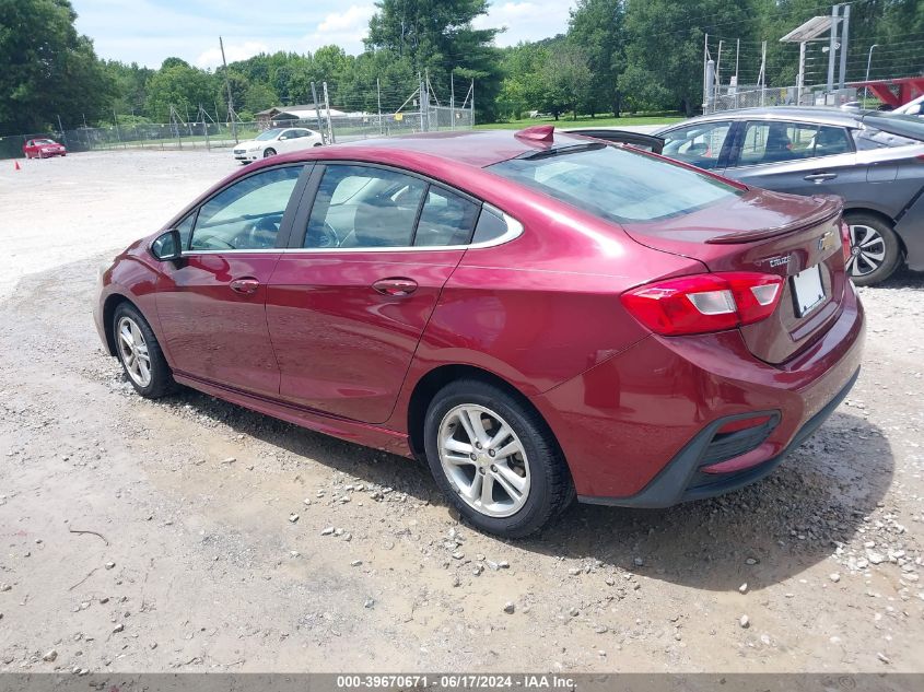
[[[351,92],[339,101],[328,96],[326,82],[313,84],[318,98],[309,117],[288,115],[286,106],[280,106],[277,114],[260,116],[254,120],[242,120],[233,106],[229,117],[221,121],[201,105],[192,109],[177,105],[169,106],[166,122],[141,122],[139,118],[113,114],[113,125],[73,129],[58,129],[52,132],[26,132],[0,138],[0,159],[21,157],[23,145],[39,138],[50,138],[65,144],[69,152],[118,150],[118,149],[230,149],[237,142],[257,137],[260,132],[279,127],[301,127],[319,131],[325,143],[349,142],[377,137],[393,137],[414,132],[465,130],[475,126],[475,82],[466,84],[467,92],[461,103],[456,99],[455,90],[448,98],[440,99],[430,79],[422,77],[418,84],[407,89],[393,86],[383,92],[378,86]],[[455,86],[455,85],[454,85]],[[398,98],[403,103],[395,107]],[[318,103],[320,102],[320,103]],[[332,102],[332,103],[331,103]],[[374,108],[369,108],[375,104]],[[293,106],[288,106],[296,110]],[[277,110],[277,108],[273,108]],[[214,114],[218,116],[218,114]],[[195,116],[195,117],[190,117]],[[60,122],[59,118],[56,118]],[[129,119],[130,122],[125,122]]]

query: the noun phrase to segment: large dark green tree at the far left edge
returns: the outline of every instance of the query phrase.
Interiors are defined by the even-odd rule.
[[[95,119],[114,84],[68,0],[0,0],[0,131],[74,127]]]

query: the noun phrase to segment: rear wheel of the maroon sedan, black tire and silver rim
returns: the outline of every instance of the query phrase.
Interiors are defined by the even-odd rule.
[[[441,389],[426,410],[424,446],[448,501],[489,533],[528,536],[574,497],[545,421],[495,385],[460,379]]]

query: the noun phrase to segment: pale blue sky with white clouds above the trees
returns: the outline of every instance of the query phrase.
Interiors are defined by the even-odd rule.
[[[373,0],[71,0],[77,27],[102,58],[156,68],[176,56],[201,68],[261,51],[304,52],[326,44],[362,50]],[[291,7],[286,7],[290,5]],[[505,26],[498,45],[565,31],[573,0],[494,0],[478,26]]]

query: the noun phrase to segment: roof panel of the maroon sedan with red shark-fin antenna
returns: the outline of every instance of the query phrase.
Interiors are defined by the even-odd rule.
[[[555,130],[551,140],[536,140],[517,137],[516,130],[457,130],[449,132],[426,132],[401,134],[383,139],[367,139],[344,144],[325,146],[325,157],[336,152],[349,156],[354,148],[366,152],[378,151],[383,156],[396,150],[424,154],[455,163],[465,163],[483,168],[502,161],[508,161],[525,153],[547,151],[558,146],[585,143],[585,138]]]

